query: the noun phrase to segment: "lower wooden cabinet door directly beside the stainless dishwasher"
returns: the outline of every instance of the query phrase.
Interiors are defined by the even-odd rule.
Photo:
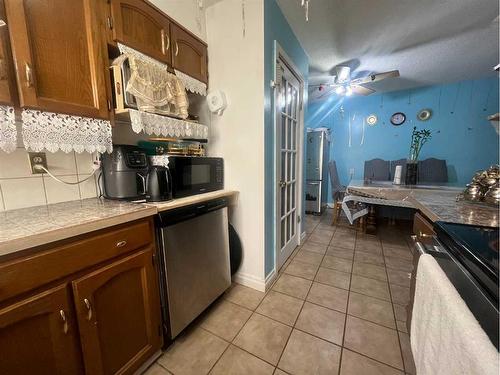
[[[88,374],[133,373],[161,347],[160,301],[151,249],[73,282]]]

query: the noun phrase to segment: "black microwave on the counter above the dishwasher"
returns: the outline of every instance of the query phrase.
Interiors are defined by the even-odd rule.
[[[170,156],[174,198],[224,189],[224,160],[200,156]]]

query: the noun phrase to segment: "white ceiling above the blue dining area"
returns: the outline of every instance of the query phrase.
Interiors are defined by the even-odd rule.
[[[378,92],[497,74],[498,0],[310,0],[307,23],[300,0],[277,2],[310,57],[310,85],[339,64],[354,76],[399,69]]]

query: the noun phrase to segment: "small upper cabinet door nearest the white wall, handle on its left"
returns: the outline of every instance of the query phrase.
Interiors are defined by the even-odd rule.
[[[170,25],[170,35],[174,68],[207,83],[207,46],[176,24]]]

